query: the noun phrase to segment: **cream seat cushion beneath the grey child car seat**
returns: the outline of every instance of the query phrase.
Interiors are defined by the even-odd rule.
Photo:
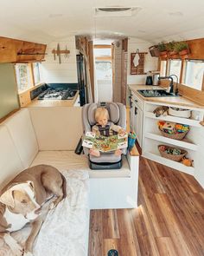
[[[48,164],[63,169],[86,169],[90,178],[130,177],[131,170],[126,157],[123,158],[123,167],[118,170],[91,170],[85,154],[75,154],[73,151],[40,151],[31,166]]]

